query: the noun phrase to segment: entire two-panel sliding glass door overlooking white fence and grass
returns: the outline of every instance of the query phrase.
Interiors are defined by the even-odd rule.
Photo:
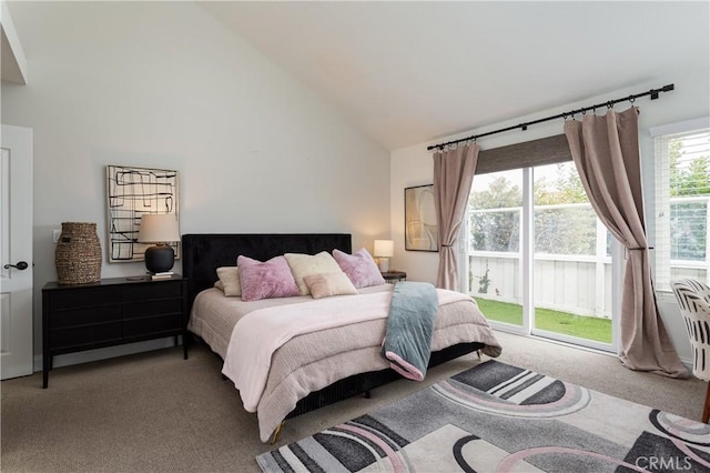
[[[612,349],[611,238],[574,163],[476,175],[469,270],[497,328]]]

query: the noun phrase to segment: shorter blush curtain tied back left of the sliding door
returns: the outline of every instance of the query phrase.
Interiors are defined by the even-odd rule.
[[[466,215],[478,151],[478,144],[473,142],[434,153],[434,205],[439,228],[437,288],[459,290],[458,262],[454,244]]]

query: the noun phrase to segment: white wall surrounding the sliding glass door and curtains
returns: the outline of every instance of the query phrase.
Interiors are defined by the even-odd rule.
[[[608,100],[628,97],[632,93],[656,89],[669,83],[674,83],[676,90],[661,93],[658,100],[651,101],[648,97],[638,99],[636,105],[640,109],[639,129],[641,137],[641,160],[643,167],[645,197],[647,223],[653,244],[653,141],[649,134],[649,129],[665,123],[673,123],[710,114],[710,78],[708,77],[707,60],[699,61],[697,69],[688,72],[668,71],[667,76],[649,80],[646,83],[633,84],[622,90],[610,91],[600,97],[590,97],[575,103],[561,104],[559,108],[544,110],[534,115],[516,117],[514,120],[496,123],[478,130],[471,130],[450,137],[442,137],[435,142],[417,144],[415,147],[403,148],[392,152],[392,236],[395,241],[395,255],[392,260],[394,268],[407,272],[408,279],[429,281],[436,280],[438,265],[438,253],[424,253],[405,251],[404,249],[404,188],[432,183],[433,163],[432,152],[427,151],[427,145],[446,142],[453,139],[465,138],[485,131],[496,130],[516,125],[523,122],[532,121],[544,117],[564,113],[569,110],[579,109],[595,103],[604,103]],[[521,87],[524,84],[521,83]],[[579,84],[580,94],[585,90],[585,84]],[[615,110],[621,111],[628,108],[628,102],[615,105]],[[606,111],[606,109],[604,110]],[[604,112],[599,110],[599,113]],[[471,103],[471,119],[476,117],[476,104]],[[579,117],[577,117],[579,119]],[[564,133],[562,120],[554,120],[536,125],[531,125],[527,131],[509,131],[491,137],[483,138],[478,141],[481,149],[494,149],[507,144],[535,140],[538,138],[551,137]],[[476,180],[474,179],[474,187]],[[682,326],[680,314],[674,301],[670,298],[661,298],[659,301],[661,316],[669,331],[671,340],[676,345],[679,355],[684,360],[690,358],[690,346]]]

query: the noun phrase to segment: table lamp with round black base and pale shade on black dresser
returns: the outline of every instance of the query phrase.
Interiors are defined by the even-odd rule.
[[[173,268],[175,252],[168,242],[180,241],[178,215],[174,213],[145,213],[138,231],[140,243],[156,243],[145,249],[145,269],[155,274]]]

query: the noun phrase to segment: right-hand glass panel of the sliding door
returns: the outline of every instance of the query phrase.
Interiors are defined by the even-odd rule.
[[[532,333],[610,348],[609,232],[572,162],[537,167],[532,175]]]

